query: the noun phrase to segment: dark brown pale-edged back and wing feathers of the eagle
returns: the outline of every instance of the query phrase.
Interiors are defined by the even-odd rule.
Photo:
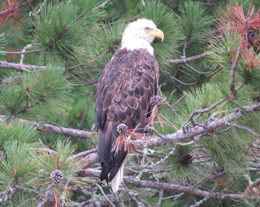
[[[117,153],[112,151],[118,125],[126,124],[131,130],[141,123],[138,132],[144,133],[149,100],[157,94],[158,73],[158,63],[146,49],[121,49],[103,69],[95,92],[101,181],[108,182],[109,173],[109,181],[114,178],[128,153],[124,146]]]

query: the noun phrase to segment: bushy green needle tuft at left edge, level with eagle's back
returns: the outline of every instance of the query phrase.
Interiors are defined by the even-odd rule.
[[[64,72],[65,69],[57,65],[48,66],[43,71],[21,76],[17,83],[10,80],[9,84],[1,85],[0,112],[9,118],[29,120],[44,114],[64,115],[71,102],[71,98],[64,94],[71,89],[65,81],[68,74]]]

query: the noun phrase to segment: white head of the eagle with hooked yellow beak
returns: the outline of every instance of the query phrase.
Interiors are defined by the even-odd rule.
[[[164,39],[164,34],[152,20],[139,19],[128,24],[123,32],[122,49],[134,50],[138,48],[146,48],[153,55],[153,47],[151,46],[154,38]]]

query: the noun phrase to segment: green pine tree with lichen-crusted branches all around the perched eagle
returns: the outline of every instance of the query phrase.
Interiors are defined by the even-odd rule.
[[[260,206],[259,8],[4,0],[0,206]],[[152,43],[161,68],[155,127],[142,145],[131,142],[112,193],[99,179],[93,93],[138,18],[165,35]]]

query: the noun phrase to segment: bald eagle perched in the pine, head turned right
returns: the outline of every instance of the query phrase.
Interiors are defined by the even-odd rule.
[[[94,101],[97,154],[102,165],[100,179],[110,181],[113,192],[118,191],[122,182],[129,150],[126,140],[118,140],[127,131],[133,134],[133,129],[144,133],[152,110],[150,99],[158,94],[159,66],[151,46],[155,37],[163,40],[164,34],[152,20],[143,18],[129,23],[121,48],[106,64],[97,82]],[[131,136],[127,134],[125,138]]]

